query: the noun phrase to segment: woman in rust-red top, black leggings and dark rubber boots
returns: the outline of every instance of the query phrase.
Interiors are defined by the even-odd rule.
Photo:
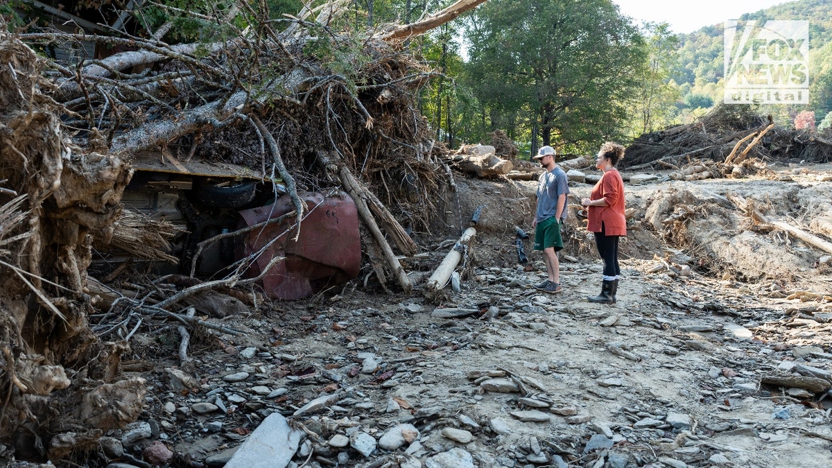
[[[626,217],[624,217],[624,182],[616,165],[624,157],[624,147],[607,142],[595,160],[595,167],[604,174],[592,187],[589,198],[581,204],[588,207],[589,223],[587,230],[595,233],[595,245],[598,255],[604,261],[601,294],[587,297],[589,301],[612,304],[616,301],[618,280],[621,268],[618,266],[618,237],[626,236]]]

